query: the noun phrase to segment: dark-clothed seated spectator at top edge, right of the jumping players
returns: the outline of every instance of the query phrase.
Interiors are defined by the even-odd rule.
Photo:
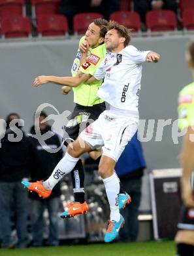
[[[141,21],[146,23],[146,13],[151,10],[171,10],[177,12],[176,0],[133,0],[134,11],[140,14]]]

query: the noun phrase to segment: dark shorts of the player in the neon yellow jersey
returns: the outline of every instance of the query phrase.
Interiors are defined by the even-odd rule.
[[[93,106],[81,106],[76,104],[74,110],[69,117],[69,123],[65,127],[63,139],[67,137],[75,140],[78,135],[93,121],[95,121],[100,114],[106,110],[105,102],[95,104]]]

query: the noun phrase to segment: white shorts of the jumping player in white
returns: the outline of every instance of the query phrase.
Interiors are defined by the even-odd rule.
[[[125,116],[105,110],[80,133],[80,138],[93,149],[103,147],[103,155],[118,161],[137,128],[138,116]]]

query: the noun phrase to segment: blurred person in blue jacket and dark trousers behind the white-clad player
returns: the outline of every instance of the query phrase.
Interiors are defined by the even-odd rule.
[[[138,207],[141,199],[142,175],[146,162],[144,160],[142,146],[137,139],[137,133],[125,146],[116,163],[116,173],[120,177],[123,189],[131,196],[132,203],[127,205],[121,215],[125,219],[125,226],[120,230],[121,242],[134,242],[138,236]]]

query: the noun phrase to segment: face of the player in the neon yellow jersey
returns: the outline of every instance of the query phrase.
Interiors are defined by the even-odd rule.
[[[95,25],[93,22],[89,24],[88,30],[86,31],[86,41],[88,41],[89,46],[91,48],[97,47],[102,40],[102,37],[100,37],[101,29],[99,26]]]

